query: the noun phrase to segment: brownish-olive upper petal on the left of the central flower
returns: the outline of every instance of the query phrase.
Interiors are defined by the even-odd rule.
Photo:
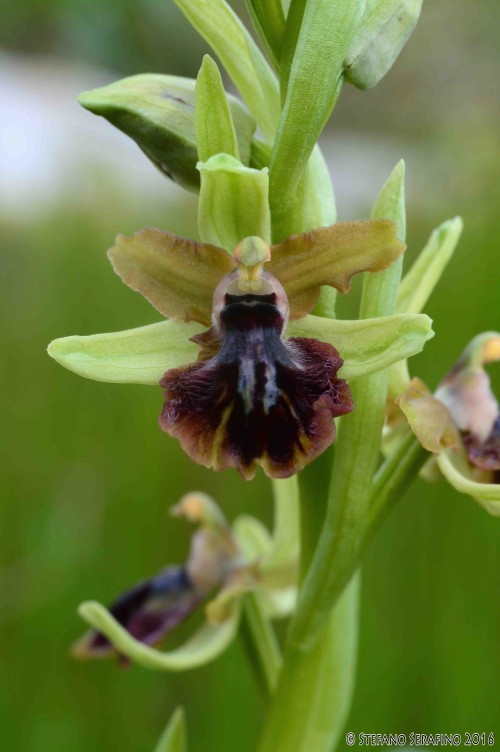
[[[214,289],[235,266],[222,248],[156,229],[118,235],[108,256],[122,281],[164,316],[205,326]]]

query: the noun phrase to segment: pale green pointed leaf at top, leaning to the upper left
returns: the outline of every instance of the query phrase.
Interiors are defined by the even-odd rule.
[[[238,16],[225,0],[175,0],[208,42],[262,133],[272,140],[279,119],[278,82]]]

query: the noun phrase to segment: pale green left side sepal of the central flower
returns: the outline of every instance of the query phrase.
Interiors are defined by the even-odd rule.
[[[166,371],[196,360],[198,347],[189,337],[201,331],[199,324],[167,320],[122,332],[55,339],[48,353],[87,379],[158,386]]]

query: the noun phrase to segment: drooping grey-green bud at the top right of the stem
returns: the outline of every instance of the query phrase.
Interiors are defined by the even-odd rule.
[[[417,25],[422,0],[379,0],[367,10],[347,52],[345,79],[372,89],[394,65]]]

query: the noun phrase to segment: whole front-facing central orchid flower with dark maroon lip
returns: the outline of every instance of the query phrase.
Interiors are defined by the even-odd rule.
[[[403,250],[388,220],[337,223],[271,248],[250,237],[233,255],[160,230],[119,236],[113,268],[168,320],[55,340],[49,354],[90,378],[160,383],[160,425],[196,462],[236,467],[245,479],[256,465],[288,477],[332,443],[333,418],[353,409],[343,377],[386,368],[432,336],[419,314],[309,315],[321,285],[346,292],[354,274],[384,269]]]

